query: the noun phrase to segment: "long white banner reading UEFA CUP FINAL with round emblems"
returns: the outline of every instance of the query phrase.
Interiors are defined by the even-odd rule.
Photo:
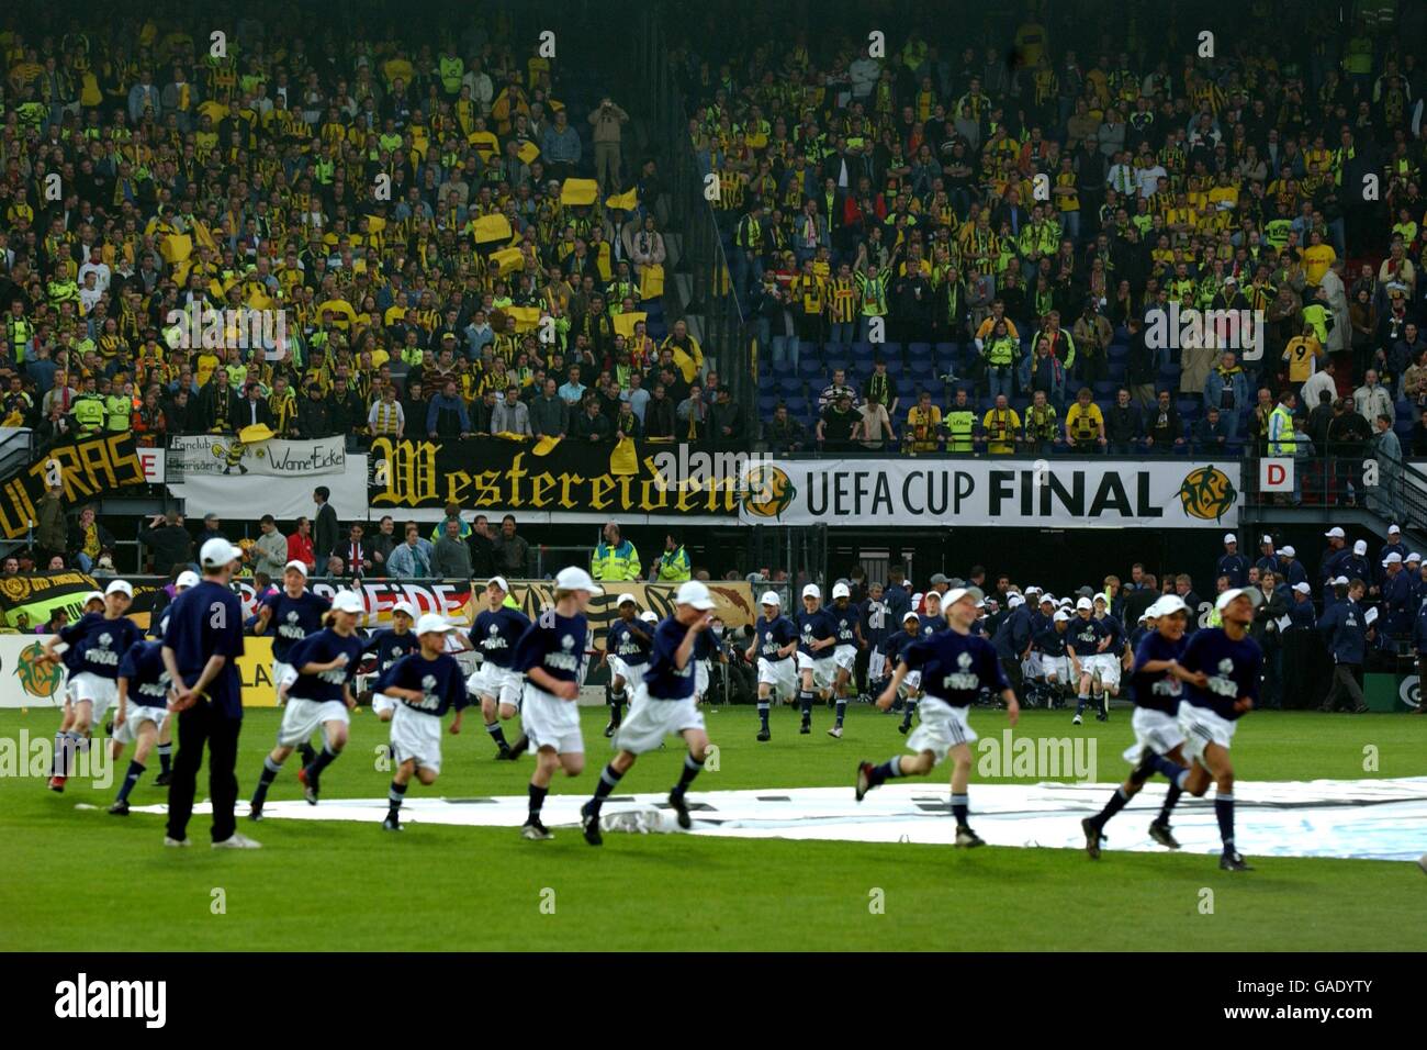
[[[1223,529],[1240,464],[1166,459],[775,460],[742,503],[748,524]]]

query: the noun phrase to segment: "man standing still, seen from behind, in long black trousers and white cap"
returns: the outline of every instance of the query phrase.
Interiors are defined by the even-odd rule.
[[[188,846],[188,817],[208,746],[208,796],[213,800],[213,847],[255,850],[258,843],[238,834],[233,807],[238,799],[234,766],[243,729],[243,604],[228,587],[243,556],[225,539],[208,540],[198,551],[203,581],[168,607],[164,667],[173,680],[178,711],[178,754],[168,787],[168,834],[164,846]]]

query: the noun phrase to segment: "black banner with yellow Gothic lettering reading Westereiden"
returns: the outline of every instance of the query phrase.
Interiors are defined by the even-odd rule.
[[[634,440],[377,439],[368,456],[368,503],[372,516],[455,503],[465,510],[529,516],[714,516],[732,521],[748,459]]]

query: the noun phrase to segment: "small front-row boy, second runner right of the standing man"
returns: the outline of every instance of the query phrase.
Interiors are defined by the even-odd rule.
[[[387,819],[381,821],[388,831],[401,830],[401,803],[411,777],[428,786],[437,781],[441,773],[441,716],[452,707],[451,733],[461,731],[467,684],[461,664],[445,653],[445,636],[452,630],[455,627],[442,617],[427,613],[417,621],[421,647],[397,660],[378,679],[382,696],[400,701],[391,711],[391,757],[397,771],[387,791]]]

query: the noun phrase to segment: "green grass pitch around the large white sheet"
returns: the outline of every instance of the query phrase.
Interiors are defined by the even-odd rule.
[[[278,713],[248,711],[238,761],[240,799],[255,783]],[[606,756],[602,709],[584,711],[589,769],[555,791],[588,794]],[[849,784],[856,760],[903,747],[896,719],[849,714],[848,737],[796,734],[796,716],[775,711],[773,741],[756,744],[749,709],[708,716],[721,746],[716,773],[699,791]],[[982,736],[1005,716],[976,711]],[[0,711],[0,739],[51,739],[53,711]],[[378,799],[388,774],[374,756],[387,727],[370,711],[352,719],[345,754],[323,777],[323,797]],[[1072,727],[1060,711],[1029,711],[1019,734],[1099,741],[1099,780],[1126,771],[1127,711],[1107,726]],[[1364,749],[1377,770],[1364,773]],[[531,763],[491,761],[479,717],[445,737],[445,767],[411,797],[524,794]],[[682,751],[646,756],[621,791],[668,787]],[[1404,777],[1427,774],[1427,719],[1264,713],[1240,723],[1234,764],[1241,780]],[[121,776],[123,763],[116,776]],[[164,801],[157,759],[133,804]],[[271,799],[300,797],[295,760]],[[945,790],[945,780],[938,780]],[[975,783],[972,807],[975,824]],[[930,786],[930,784],[929,784]],[[592,850],[578,830],[528,843],[508,829],[421,824],[394,836],[341,821],[240,821],[264,849],[161,847],[154,814],[113,817],[103,791],[71,780],[63,796],[33,777],[0,779],[0,949],[4,950],[1423,950],[1427,883],[1414,864],[1254,857],[1251,874],[1217,870],[1213,857],[1107,853],[1092,864],[1077,850],[706,836],[606,836]],[[935,789],[933,789],[935,790]],[[200,800],[205,781],[200,780]],[[247,806],[240,806],[245,813]],[[1427,834],[1424,834],[1427,843]],[[885,911],[869,909],[872,889]],[[1216,893],[1200,914],[1200,890]],[[225,911],[214,914],[214,890]],[[554,913],[549,913],[554,890]],[[147,901],[134,907],[136,900]],[[545,903],[542,910],[541,904]]]

